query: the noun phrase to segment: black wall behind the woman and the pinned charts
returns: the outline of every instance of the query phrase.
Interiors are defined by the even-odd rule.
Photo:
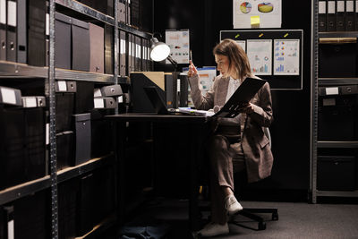
[[[270,127],[275,162],[272,175],[255,187],[309,188],[311,1],[283,1],[282,27],[303,30],[303,90],[272,90],[275,121]],[[233,30],[233,1],[154,0],[154,31],[190,30],[192,58],[197,66],[216,65],[212,48],[220,30]],[[179,65],[179,68],[187,65]],[[158,71],[172,71],[157,64]],[[263,77],[264,78],[264,77]]]

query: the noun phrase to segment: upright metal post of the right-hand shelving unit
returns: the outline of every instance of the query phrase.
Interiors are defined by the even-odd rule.
[[[319,1],[312,1],[311,13],[311,167],[310,188],[311,202],[317,202],[317,132],[318,132],[318,60],[319,60],[319,31],[318,15]]]

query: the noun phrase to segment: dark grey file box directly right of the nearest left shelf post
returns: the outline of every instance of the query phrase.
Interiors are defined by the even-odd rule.
[[[71,22],[62,13],[55,13],[55,67],[71,69]]]

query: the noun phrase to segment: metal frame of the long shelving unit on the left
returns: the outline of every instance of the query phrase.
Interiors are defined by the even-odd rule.
[[[114,0],[114,7],[117,9],[117,0]],[[55,68],[55,8],[61,5],[62,9],[68,8],[75,13],[84,14],[91,19],[102,21],[108,25],[114,26],[114,73],[90,73]],[[151,38],[152,34],[138,30],[132,26],[126,25],[115,17],[100,13],[87,5],[74,0],[49,0],[49,66],[38,67],[28,64],[18,64],[7,61],[0,61],[0,82],[1,78],[11,79],[44,79],[45,92],[48,98],[49,111],[49,152],[48,152],[48,175],[36,180],[18,184],[13,187],[0,191],[0,205],[15,201],[34,192],[45,189],[51,191],[51,238],[58,238],[58,209],[57,209],[57,185],[70,180],[79,175],[83,175],[102,166],[115,165],[116,159],[113,154],[102,158],[92,158],[80,166],[72,166],[64,170],[56,169],[56,132],[55,132],[55,79],[71,81],[93,81],[97,83],[124,83],[129,84],[130,80],[126,77],[119,77],[119,30],[130,32],[141,38]],[[103,227],[103,226],[100,226]],[[92,232],[93,233],[93,232]]]

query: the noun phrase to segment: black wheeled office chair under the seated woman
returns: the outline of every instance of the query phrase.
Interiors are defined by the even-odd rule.
[[[272,147],[271,135],[270,135],[269,130],[268,130],[267,127],[264,128],[264,133],[265,133],[266,137],[268,137],[268,141],[269,141],[268,146],[271,148]],[[246,176],[245,174],[243,174],[243,175]],[[253,220],[253,221],[258,223],[257,229],[251,228],[249,226],[243,226],[243,227],[250,228],[250,229],[253,229],[253,230],[265,230],[266,229],[266,222],[264,221],[264,218],[262,218],[262,217],[257,215],[257,214],[263,214],[263,213],[265,213],[265,214],[270,213],[271,214],[271,219],[273,221],[278,220],[278,209],[256,209],[256,208],[254,208],[254,209],[252,209],[252,208],[246,209],[246,208],[243,208],[243,210],[237,212],[231,218],[229,223],[232,223],[232,224],[237,225],[237,226],[243,226],[242,224],[240,224],[240,222],[235,221],[235,217],[237,215],[242,215],[243,217],[250,218],[251,220]]]

